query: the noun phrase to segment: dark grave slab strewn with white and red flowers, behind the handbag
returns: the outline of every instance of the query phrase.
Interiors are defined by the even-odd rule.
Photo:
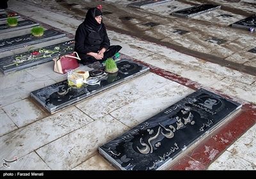
[[[0,70],[6,74],[12,74],[32,66],[36,66],[48,61],[60,54],[68,54],[74,52],[74,40],[57,43],[33,51],[23,52],[14,56],[8,56],[0,59]]]

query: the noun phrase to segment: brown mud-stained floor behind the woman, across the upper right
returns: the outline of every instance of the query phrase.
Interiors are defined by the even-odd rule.
[[[101,4],[102,12],[105,12],[104,23],[110,30],[136,36],[149,42],[170,47],[184,54],[256,75],[255,54],[248,53],[247,57],[247,53],[243,53],[243,56],[236,53],[237,49],[248,50],[246,47],[253,48],[250,45],[253,45],[255,35],[250,35],[246,29],[231,26],[232,23],[255,14],[256,8],[253,1],[241,1],[240,3],[218,1],[218,5],[221,6],[220,10],[213,10],[189,18],[172,15],[172,12],[198,4],[217,3],[215,1],[167,1],[154,6],[135,8],[129,6],[129,4],[138,1],[108,0],[76,1],[74,3],[74,1],[65,0],[48,3],[45,3],[45,1],[32,2],[42,8],[64,13],[64,15],[80,20],[84,19],[88,8]],[[220,15],[223,14],[232,15],[233,17],[221,18]],[[157,25],[145,26],[150,22]],[[184,29],[189,33],[180,37],[180,35],[172,33],[174,29]],[[204,43],[207,38],[212,36],[223,38],[227,42],[221,44],[221,47],[212,47],[212,45]],[[238,56],[238,58],[250,59],[250,61],[238,62],[236,59],[229,57],[231,54],[234,54],[234,58]]]

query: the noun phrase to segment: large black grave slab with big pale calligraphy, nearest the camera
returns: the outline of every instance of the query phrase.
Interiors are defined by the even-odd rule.
[[[161,170],[239,111],[241,104],[198,89],[99,147],[117,169]]]

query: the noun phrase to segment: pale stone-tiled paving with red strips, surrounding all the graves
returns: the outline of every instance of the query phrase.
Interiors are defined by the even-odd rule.
[[[227,26],[227,22],[221,20],[212,22],[212,13],[216,16],[215,13],[236,12],[224,8],[191,20],[169,17],[170,9],[163,8],[174,6],[172,3],[178,6],[184,1],[143,9],[127,7],[133,1],[124,0],[76,1],[79,3],[75,6],[67,5],[72,1],[56,2],[8,2],[6,11],[66,34],[58,40],[31,45],[32,48],[72,40],[76,27],[83,22],[86,8],[100,3],[102,12],[105,7],[109,7],[106,11],[113,12],[104,15],[104,22],[109,27],[111,43],[123,47],[121,58],[149,66],[150,72],[55,114],[47,113],[29,97],[35,89],[67,79],[66,75],[53,72],[53,61],[15,74],[0,74],[1,159],[19,158],[10,169],[116,170],[99,154],[99,146],[196,89],[205,88],[243,104],[242,110],[178,156],[166,170],[255,170],[256,54],[248,52],[255,47],[255,33]],[[194,4],[186,2],[182,7]],[[227,4],[225,7],[236,4],[228,2],[223,1]],[[244,8],[246,13],[234,17],[233,22],[255,12],[252,3],[250,10],[250,2],[241,3],[246,5],[235,8],[242,12]],[[121,16],[134,19],[127,22]],[[207,20],[202,20],[203,17]],[[148,27],[143,25],[146,21],[160,24]],[[171,33],[173,29],[185,27],[190,31],[185,37]],[[1,39],[26,33],[29,29],[3,33]],[[211,36],[225,38],[227,42],[222,45],[206,42]],[[0,58],[26,52],[31,47],[1,52]],[[6,170],[3,166],[0,169]]]

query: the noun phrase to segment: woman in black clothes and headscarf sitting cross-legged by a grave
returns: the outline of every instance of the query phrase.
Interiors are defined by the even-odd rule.
[[[102,22],[102,12],[99,8],[90,8],[84,22],[76,30],[75,51],[81,58],[79,63],[90,68],[100,68],[102,62],[120,51],[120,45],[110,45],[105,24]]]

